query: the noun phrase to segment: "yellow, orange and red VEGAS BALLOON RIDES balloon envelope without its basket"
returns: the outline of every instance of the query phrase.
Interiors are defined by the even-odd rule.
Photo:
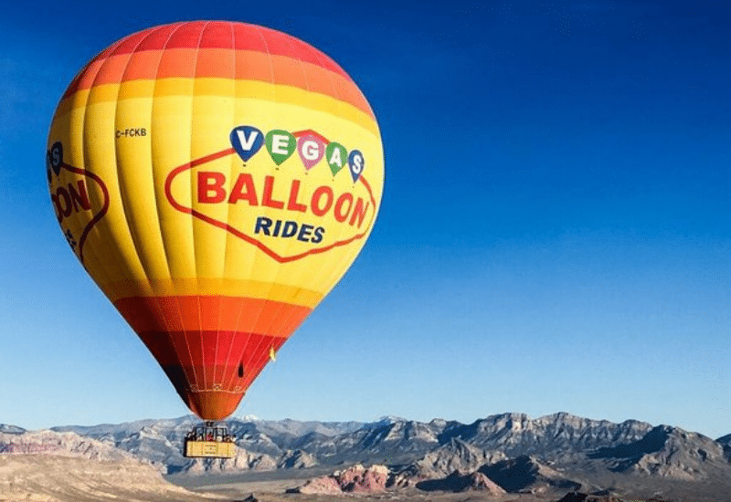
[[[74,254],[213,423],[364,246],[384,165],[373,110],[331,58],[197,21],[92,59],[58,104],[47,171]]]

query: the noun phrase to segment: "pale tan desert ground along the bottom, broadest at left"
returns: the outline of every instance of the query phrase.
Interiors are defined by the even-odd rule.
[[[567,491],[541,494],[488,495],[479,491],[450,493],[414,487],[381,493],[341,495],[296,494],[323,467],[297,472],[243,475],[160,476],[150,465],[122,460],[103,462],[48,455],[0,455],[0,502],[727,502],[713,496],[713,486],[677,483],[638,486],[638,496],[567,497]],[[662,492],[662,495],[659,493]],[[706,497],[707,494],[707,497]],[[653,495],[656,498],[651,498]]]

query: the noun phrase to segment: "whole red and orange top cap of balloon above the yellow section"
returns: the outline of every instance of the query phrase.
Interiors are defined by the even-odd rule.
[[[122,76],[132,55],[134,64]],[[95,74],[102,63],[104,75],[93,82],[88,74]],[[343,68],[314,47],[260,26],[218,21],[158,26],[127,37],[94,58],[74,78],[64,98],[92,84],[122,80],[232,76],[325,94],[374,117]]]

